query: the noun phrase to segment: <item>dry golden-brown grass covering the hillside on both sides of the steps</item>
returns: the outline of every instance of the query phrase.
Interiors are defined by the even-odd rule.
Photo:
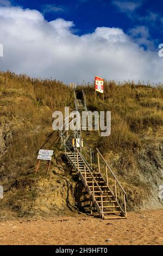
[[[147,184],[143,184],[135,166],[138,153],[146,149],[151,138],[147,136],[148,131],[158,131],[162,126],[163,89],[132,82],[116,84],[114,81],[105,81],[104,86],[104,102],[102,95],[95,99],[93,85],[77,90],[79,93],[81,89],[85,90],[90,110],[111,111],[111,135],[97,137],[94,144],[104,155],[117,155],[112,166],[129,189],[128,200],[134,202],[143,190],[147,192]],[[26,185],[28,180],[30,187],[32,178],[37,178],[33,173],[37,151],[42,146],[58,151],[58,133],[54,132],[51,137],[52,113],[63,111],[65,106],[73,107],[73,92],[62,82],[0,72],[0,136],[2,130],[5,143],[0,158],[0,181],[7,191],[16,188],[16,194],[8,202],[10,205],[15,197],[20,198],[20,202],[35,197],[34,190],[24,194],[22,184]],[[39,175],[44,175],[42,169]],[[133,193],[139,196],[133,197]]]

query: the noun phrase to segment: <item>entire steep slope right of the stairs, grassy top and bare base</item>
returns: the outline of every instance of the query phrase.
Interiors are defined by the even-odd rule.
[[[159,185],[163,184],[163,88],[142,84],[104,83],[102,95],[94,87],[77,89],[86,94],[92,111],[111,111],[111,135],[90,139],[104,154],[127,191],[128,210],[160,208]]]

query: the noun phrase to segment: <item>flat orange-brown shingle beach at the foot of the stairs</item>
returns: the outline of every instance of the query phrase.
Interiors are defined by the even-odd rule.
[[[1,221],[0,244],[163,245],[163,210],[130,212],[127,220],[80,215]]]

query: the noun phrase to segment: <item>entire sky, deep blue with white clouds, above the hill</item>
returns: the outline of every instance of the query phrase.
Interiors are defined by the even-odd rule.
[[[0,0],[0,70],[163,83],[163,0]]]

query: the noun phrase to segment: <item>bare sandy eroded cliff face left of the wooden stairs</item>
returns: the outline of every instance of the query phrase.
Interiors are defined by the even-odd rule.
[[[9,127],[12,125],[10,124]],[[4,136],[5,125],[1,126],[1,131],[1,157],[3,157],[8,151],[8,143],[12,140],[12,136],[8,137],[7,142]],[[1,164],[1,185],[4,189],[4,198],[0,200],[1,218],[75,216],[89,212],[89,198],[83,193],[83,184],[68,166],[61,151],[53,157],[48,175],[46,175],[46,162],[41,163],[37,174],[34,174],[35,166],[36,156],[34,168],[29,169],[26,175],[12,175],[5,172],[5,162]]]

